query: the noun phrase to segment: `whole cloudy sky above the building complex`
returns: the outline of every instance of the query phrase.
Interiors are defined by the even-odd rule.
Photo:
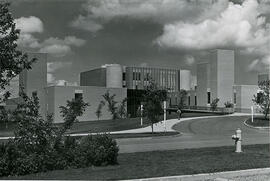
[[[20,47],[47,52],[48,81],[78,84],[105,63],[184,68],[197,55],[236,50],[236,84],[270,62],[270,0],[14,0]]]

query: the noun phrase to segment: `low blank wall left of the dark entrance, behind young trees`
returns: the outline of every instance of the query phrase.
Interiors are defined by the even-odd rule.
[[[54,122],[63,122],[60,115],[59,106],[66,105],[67,100],[74,99],[75,91],[83,92],[83,100],[90,104],[86,108],[83,116],[79,117],[79,121],[97,120],[96,110],[102,98],[107,91],[110,95],[115,94],[115,100],[119,103],[127,97],[125,88],[104,88],[95,86],[51,86],[46,88],[48,99],[48,113],[53,114]],[[102,116],[100,119],[111,119],[112,115],[107,111],[107,104],[102,108]]]

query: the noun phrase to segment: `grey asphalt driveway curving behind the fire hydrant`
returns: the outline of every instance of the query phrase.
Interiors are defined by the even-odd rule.
[[[173,137],[118,139],[120,153],[234,145],[231,135],[242,130],[243,144],[269,143],[269,130],[246,127],[247,116],[187,120],[173,126],[182,135]]]

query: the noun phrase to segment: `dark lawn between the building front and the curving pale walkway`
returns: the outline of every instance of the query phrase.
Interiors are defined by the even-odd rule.
[[[198,117],[198,116],[216,116],[215,113],[183,113],[182,118],[187,117]],[[167,119],[177,118],[176,113],[167,115]],[[163,117],[161,116],[160,120]],[[144,125],[141,126],[140,118],[125,118],[117,120],[97,120],[97,121],[84,121],[74,123],[71,130],[68,133],[97,133],[97,132],[111,132],[111,131],[122,131],[127,129],[136,129],[146,127],[150,125],[145,118],[143,120]],[[60,124],[58,124],[60,125]],[[0,123],[0,136],[13,136],[14,123],[9,123],[8,129],[5,128],[4,124]]]

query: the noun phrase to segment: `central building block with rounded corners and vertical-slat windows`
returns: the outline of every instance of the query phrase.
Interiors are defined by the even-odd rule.
[[[181,89],[189,91],[191,87],[189,70],[106,64],[80,73],[80,86],[126,88],[127,110],[130,116],[136,116],[142,102],[142,95],[151,80],[160,89],[168,90],[170,106],[177,105]]]

